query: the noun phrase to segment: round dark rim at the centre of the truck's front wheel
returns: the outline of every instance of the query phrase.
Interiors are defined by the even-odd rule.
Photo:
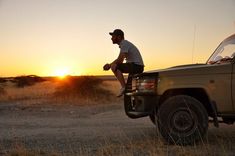
[[[189,109],[178,109],[170,118],[171,132],[187,136],[192,134],[197,127],[197,118]]]

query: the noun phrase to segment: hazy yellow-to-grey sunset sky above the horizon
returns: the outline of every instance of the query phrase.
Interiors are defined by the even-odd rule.
[[[115,28],[145,71],[204,63],[235,33],[235,0],[0,0],[0,76],[110,75]]]

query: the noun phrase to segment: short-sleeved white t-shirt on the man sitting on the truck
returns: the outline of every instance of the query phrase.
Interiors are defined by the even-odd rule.
[[[127,40],[122,40],[119,44],[120,53],[127,53],[126,62],[144,65],[143,59],[137,47]]]

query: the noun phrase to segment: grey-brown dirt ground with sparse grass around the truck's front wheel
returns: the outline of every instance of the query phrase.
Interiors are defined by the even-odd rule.
[[[149,118],[130,119],[123,104],[0,104],[0,155],[16,146],[59,155],[235,155],[235,125],[214,128],[194,146],[167,145]],[[43,153],[43,154],[45,154]]]

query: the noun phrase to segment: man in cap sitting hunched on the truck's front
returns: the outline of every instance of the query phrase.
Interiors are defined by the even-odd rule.
[[[124,32],[120,29],[116,29],[109,33],[112,38],[113,44],[118,44],[120,53],[112,63],[104,65],[104,70],[113,71],[114,75],[121,84],[121,89],[117,97],[121,97],[125,92],[125,79],[123,73],[137,74],[142,73],[144,70],[144,63],[142,56],[137,47],[131,42],[124,39]],[[124,59],[126,60],[125,63]]]

